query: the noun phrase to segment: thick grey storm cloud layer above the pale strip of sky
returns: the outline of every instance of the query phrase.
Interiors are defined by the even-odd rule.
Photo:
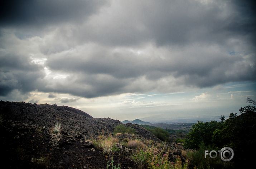
[[[254,7],[222,0],[4,2],[1,95],[38,89],[92,98],[254,81]],[[45,62],[31,62],[30,54]]]

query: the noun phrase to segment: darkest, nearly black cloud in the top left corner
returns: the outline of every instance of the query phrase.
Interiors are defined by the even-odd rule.
[[[82,21],[106,4],[90,0],[8,0],[1,2],[0,25],[45,26]]]

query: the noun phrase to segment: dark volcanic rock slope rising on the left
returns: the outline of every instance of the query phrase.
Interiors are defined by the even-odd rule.
[[[61,124],[60,134],[49,132]],[[110,118],[93,118],[67,106],[0,101],[1,164],[4,168],[40,168],[35,160],[47,157],[48,168],[106,168],[110,161],[102,150],[86,140],[112,133],[122,124]],[[159,141],[151,132],[136,124],[127,123],[141,139]],[[122,168],[136,168],[125,157],[115,157]],[[115,164],[114,163],[114,164]]]

